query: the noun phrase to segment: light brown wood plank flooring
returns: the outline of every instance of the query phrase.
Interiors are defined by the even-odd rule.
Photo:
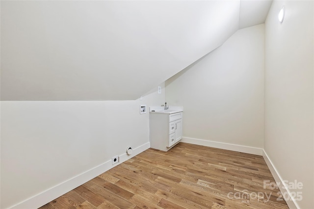
[[[179,143],[148,149],[40,209],[288,209],[261,156]]]

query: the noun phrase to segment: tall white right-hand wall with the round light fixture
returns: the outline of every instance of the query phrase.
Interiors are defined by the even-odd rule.
[[[264,150],[282,180],[303,183],[291,189],[303,209],[314,208],[313,10],[313,1],[273,1],[265,22]]]

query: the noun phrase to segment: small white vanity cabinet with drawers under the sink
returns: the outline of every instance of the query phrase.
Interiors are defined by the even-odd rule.
[[[182,139],[183,112],[151,112],[151,148],[168,151]]]

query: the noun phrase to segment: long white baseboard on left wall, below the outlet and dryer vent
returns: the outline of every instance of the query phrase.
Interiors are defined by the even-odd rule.
[[[127,154],[122,154],[119,156],[119,163],[112,165],[111,159],[104,162],[101,165],[98,165],[88,171],[85,171],[84,173],[81,173],[63,183],[60,183],[58,185],[53,186],[50,189],[47,189],[46,191],[43,191],[21,203],[18,203],[10,209],[34,209],[39,208],[52,200],[60,197],[61,195],[71,191],[72,189],[78,187],[79,185],[88,182],[89,180],[97,177],[98,175],[106,172],[107,170],[113,168],[114,166],[130,159],[131,157],[134,157],[141,152],[147,150],[150,148],[150,142],[147,142],[139,147],[136,147],[133,149],[133,154],[128,156]]]

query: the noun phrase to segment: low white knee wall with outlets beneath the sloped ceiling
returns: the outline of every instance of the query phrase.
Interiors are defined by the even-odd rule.
[[[111,157],[126,153],[128,146],[148,143],[149,113],[140,115],[139,106],[163,104],[161,86],[162,94],[156,87],[136,101],[2,101],[0,208],[107,161],[111,166]],[[59,190],[56,195],[67,192]]]

